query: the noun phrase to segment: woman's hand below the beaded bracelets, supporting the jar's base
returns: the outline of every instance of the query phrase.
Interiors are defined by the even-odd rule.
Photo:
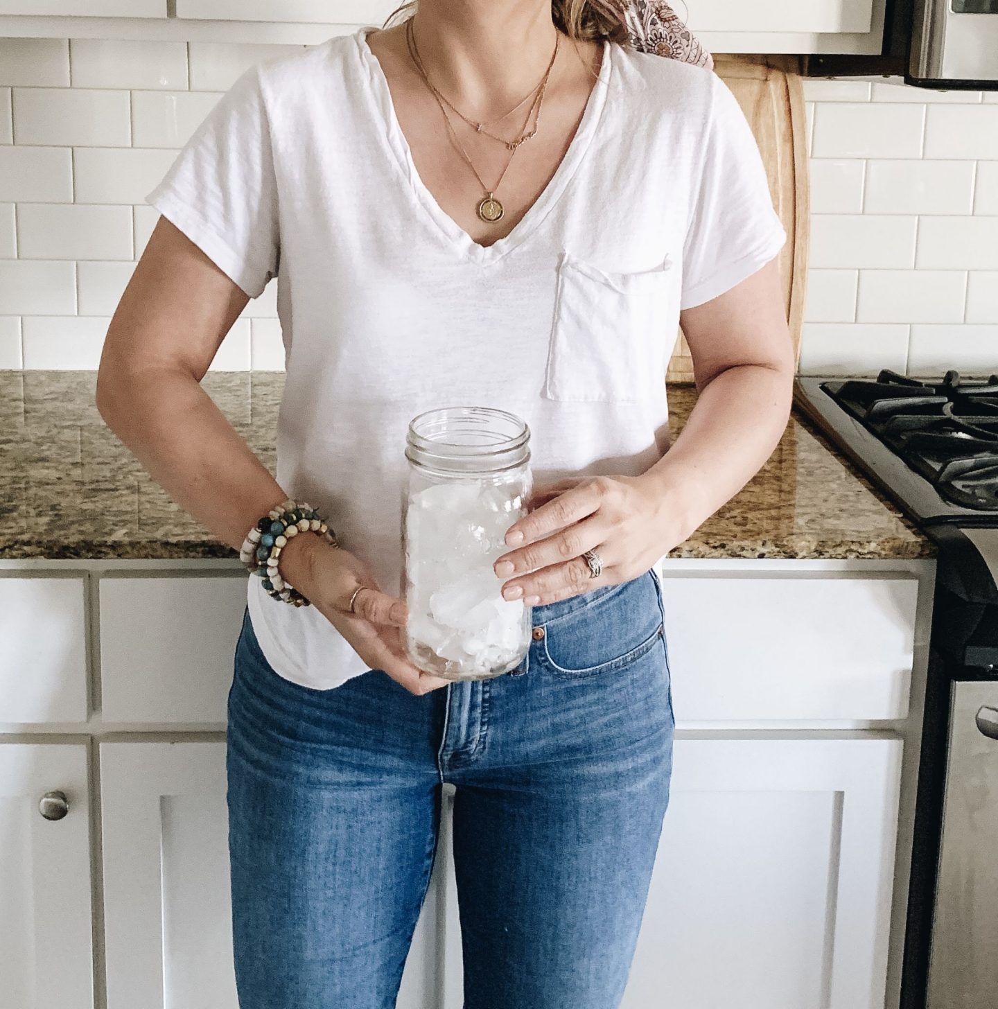
[[[368,668],[383,670],[414,694],[447,686],[448,680],[424,673],[409,661],[402,640],[409,618],[405,600],[382,592],[370,569],[354,554],[318,536],[296,536],[281,552],[281,570]],[[361,586],[351,612],[350,597]]]

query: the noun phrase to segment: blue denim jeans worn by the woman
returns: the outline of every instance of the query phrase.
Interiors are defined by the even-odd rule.
[[[389,1009],[437,849],[441,784],[466,1009],[613,1009],[669,794],[654,572],[534,609],[528,656],[423,697],[267,665],[248,614],[228,699],[241,1009]]]

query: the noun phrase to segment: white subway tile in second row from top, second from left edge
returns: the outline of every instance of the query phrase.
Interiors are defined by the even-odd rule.
[[[128,95],[77,88],[14,88],[17,143],[127,147]]]

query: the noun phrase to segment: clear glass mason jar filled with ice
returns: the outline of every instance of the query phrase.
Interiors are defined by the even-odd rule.
[[[520,664],[531,611],[492,570],[506,531],[527,514],[530,429],[502,410],[448,407],[415,417],[403,509],[406,650],[419,669],[483,680]]]

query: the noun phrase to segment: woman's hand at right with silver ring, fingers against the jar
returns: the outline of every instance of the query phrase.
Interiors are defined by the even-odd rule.
[[[650,474],[575,476],[535,490],[533,511],[506,534],[517,549],[493,565],[508,579],[503,595],[544,605],[638,577],[691,532],[670,496]],[[602,559],[597,578],[582,557],[586,550]]]

